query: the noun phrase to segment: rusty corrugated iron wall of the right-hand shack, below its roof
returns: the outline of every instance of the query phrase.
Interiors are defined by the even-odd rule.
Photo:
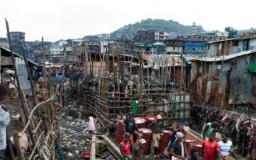
[[[249,72],[249,61],[256,63],[256,54],[223,61],[222,66],[207,62],[209,73],[207,78],[197,77],[196,94],[218,107],[249,104],[256,108],[256,75]]]

